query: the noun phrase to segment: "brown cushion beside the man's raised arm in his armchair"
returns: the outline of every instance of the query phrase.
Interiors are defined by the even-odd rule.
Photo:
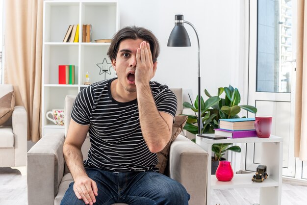
[[[171,143],[176,139],[176,137],[179,135],[181,132],[183,126],[185,125],[188,117],[184,115],[176,115],[175,116],[175,123],[173,124],[173,129],[172,129],[172,136],[170,141],[167,143],[165,148],[157,153],[158,156],[158,164],[157,168],[159,168],[159,172],[164,174],[167,162],[168,162],[168,155],[169,155],[169,150]]]

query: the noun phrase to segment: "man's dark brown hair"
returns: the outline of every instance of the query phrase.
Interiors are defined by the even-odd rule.
[[[122,29],[120,29],[112,38],[111,45],[108,49],[107,55],[109,58],[116,59],[116,55],[119,49],[119,45],[121,41],[125,39],[142,39],[144,41],[147,41],[150,45],[150,50],[152,52],[153,56],[153,62],[157,60],[157,57],[160,52],[160,46],[158,39],[153,35],[153,32],[143,28],[143,27],[137,27],[137,26],[127,26]]]

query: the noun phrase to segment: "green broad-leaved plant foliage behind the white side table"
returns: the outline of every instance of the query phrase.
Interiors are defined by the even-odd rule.
[[[225,92],[225,98],[221,95]],[[217,96],[211,96],[207,90],[205,90],[205,95],[208,99],[204,102],[201,96],[201,119],[203,124],[203,133],[214,133],[215,128],[219,128],[220,119],[230,119],[230,118],[240,118],[238,113],[241,109],[247,110],[251,113],[256,113],[257,108],[251,105],[239,105],[241,101],[241,96],[237,88],[233,88],[231,85],[229,87],[218,88]],[[190,108],[195,112],[195,115],[186,115],[188,120],[183,127],[183,129],[191,132],[192,134],[198,133],[198,96],[194,102],[194,105],[188,102],[183,103],[184,107]],[[245,118],[245,116],[243,117]],[[195,139],[193,140],[195,142]],[[233,152],[240,153],[241,148],[239,146],[231,146],[232,144],[213,144],[212,152],[214,152],[214,157],[212,157],[212,162],[218,162],[224,158],[222,156],[226,154],[226,151],[230,150]],[[225,160],[225,159],[224,159]],[[214,167],[213,164],[211,167]],[[216,166],[217,167],[217,166]],[[216,169],[215,169],[216,170]],[[211,170],[212,174],[215,174],[215,170]]]

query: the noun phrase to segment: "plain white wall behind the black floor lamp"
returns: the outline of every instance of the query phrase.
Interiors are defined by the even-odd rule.
[[[153,31],[161,52],[153,80],[169,87],[183,88],[183,101],[192,100],[198,92],[197,39],[194,30],[185,25],[191,47],[167,47],[174,27],[175,14],[197,29],[201,47],[202,96],[205,88],[216,95],[218,87],[231,84],[245,98],[244,85],[244,0],[119,0],[120,27],[144,26]],[[246,19],[247,20],[247,19]],[[242,102],[243,103],[243,102]]]

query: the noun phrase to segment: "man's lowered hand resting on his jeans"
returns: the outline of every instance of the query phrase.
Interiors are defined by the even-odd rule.
[[[74,192],[78,199],[82,199],[85,204],[93,205],[96,203],[95,196],[98,195],[97,184],[87,176],[81,176],[75,179]]]

